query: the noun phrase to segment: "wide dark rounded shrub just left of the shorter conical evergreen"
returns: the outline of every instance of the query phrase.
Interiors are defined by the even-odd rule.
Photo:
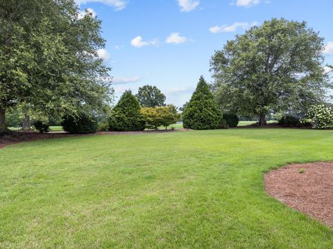
[[[67,115],[61,125],[64,131],[75,134],[96,133],[98,127],[96,118],[85,113],[80,113],[78,116]]]

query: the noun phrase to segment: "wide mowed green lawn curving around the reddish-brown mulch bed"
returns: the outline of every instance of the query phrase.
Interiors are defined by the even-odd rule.
[[[0,248],[333,248],[333,230],[263,184],[269,169],[333,160],[333,131],[81,136],[0,158]]]

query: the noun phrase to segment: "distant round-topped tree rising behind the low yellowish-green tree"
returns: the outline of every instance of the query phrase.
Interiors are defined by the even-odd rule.
[[[142,107],[162,107],[165,105],[165,95],[156,86],[139,87],[136,97]]]

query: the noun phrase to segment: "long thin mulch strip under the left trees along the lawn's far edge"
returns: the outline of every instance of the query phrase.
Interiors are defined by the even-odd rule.
[[[49,132],[49,133],[37,133],[31,131],[12,131],[10,133],[0,134],[0,149],[7,145],[16,144],[19,142],[28,142],[40,139],[49,138],[69,138],[73,136],[96,136],[96,135],[130,135],[141,133],[169,133],[178,130],[158,130],[158,131],[100,131],[93,134],[70,134],[66,132]]]

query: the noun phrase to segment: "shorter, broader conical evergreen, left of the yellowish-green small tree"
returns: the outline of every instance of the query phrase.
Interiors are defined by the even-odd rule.
[[[110,131],[143,131],[145,122],[140,109],[137,98],[131,91],[125,91],[112,109]]]

